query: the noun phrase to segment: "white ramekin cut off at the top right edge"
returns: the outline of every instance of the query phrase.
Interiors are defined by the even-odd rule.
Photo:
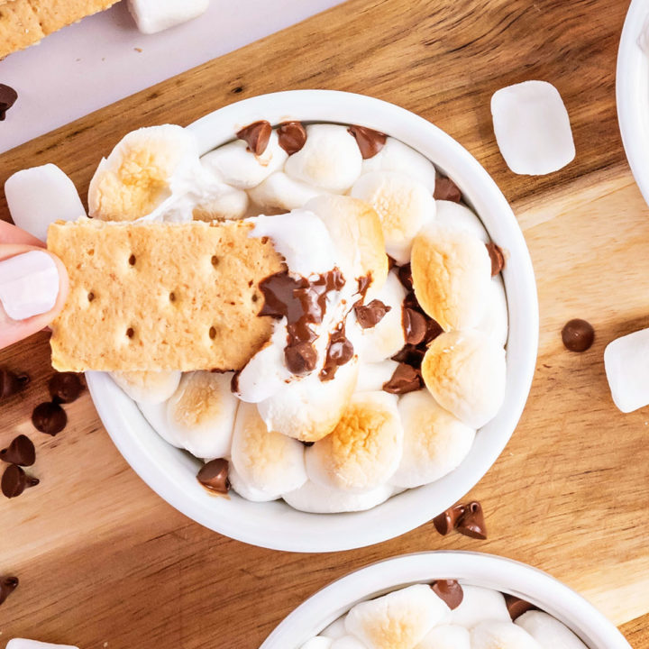
[[[635,182],[649,204],[649,55],[640,47],[649,25],[649,0],[633,0],[617,51],[617,119]]]

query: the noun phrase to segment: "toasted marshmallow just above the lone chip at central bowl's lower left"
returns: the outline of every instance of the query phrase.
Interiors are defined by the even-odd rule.
[[[230,391],[231,379],[232,373],[183,374],[178,389],[167,402],[167,429],[174,436],[175,445],[206,460],[230,454],[239,405]]]

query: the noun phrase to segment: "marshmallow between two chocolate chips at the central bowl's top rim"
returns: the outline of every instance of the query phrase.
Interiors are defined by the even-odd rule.
[[[290,156],[284,170],[306,185],[343,193],[361,175],[361,151],[346,126],[310,124],[305,145]]]

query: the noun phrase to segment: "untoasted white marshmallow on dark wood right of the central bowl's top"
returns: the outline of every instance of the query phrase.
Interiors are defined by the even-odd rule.
[[[494,133],[507,167],[516,174],[542,176],[575,157],[568,111],[547,81],[524,81],[491,97]]]

